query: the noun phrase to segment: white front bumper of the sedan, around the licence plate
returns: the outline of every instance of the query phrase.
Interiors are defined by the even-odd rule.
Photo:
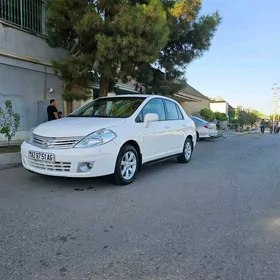
[[[53,162],[33,159],[29,151],[53,154]],[[48,176],[89,178],[113,174],[119,153],[114,141],[92,148],[43,149],[27,142],[21,145],[22,165],[25,169]],[[89,162],[92,168],[82,172],[81,163]]]

